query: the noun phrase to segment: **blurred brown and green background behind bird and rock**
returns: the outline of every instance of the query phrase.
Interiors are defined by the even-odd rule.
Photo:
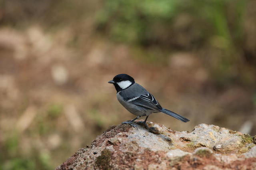
[[[0,169],[53,169],[133,119],[120,73],[190,119],[149,121],[256,135],[256,1],[0,0]]]

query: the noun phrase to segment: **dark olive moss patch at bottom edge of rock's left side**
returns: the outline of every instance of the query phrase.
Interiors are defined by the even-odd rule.
[[[96,158],[96,166],[102,170],[110,170],[111,165],[110,161],[112,158],[112,152],[108,149],[104,149],[101,152],[101,155]]]

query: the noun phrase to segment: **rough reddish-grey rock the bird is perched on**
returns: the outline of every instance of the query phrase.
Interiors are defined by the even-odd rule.
[[[192,132],[148,126],[111,126],[56,170],[256,170],[256,137],[206,124]]]

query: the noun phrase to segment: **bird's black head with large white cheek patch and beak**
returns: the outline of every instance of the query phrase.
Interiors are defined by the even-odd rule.
[[[128,74],[118,74],[118,75],[114,76],[113,80],[109,81],[108,83],[114,84],[114,86],[116,88],[116,92],[119,92],[121,90],[124,90],[124,89],[132,86],[132,84],[134,84],[135,81]]]

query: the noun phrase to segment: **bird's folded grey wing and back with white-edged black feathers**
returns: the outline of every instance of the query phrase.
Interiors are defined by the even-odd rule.
[[[121,95],[124,100],[132,104],[146,107],[157,112],[162,109],[154,96],[137,83],[130,86],[127,90],[122,90],[120,93],[122,93]]]

